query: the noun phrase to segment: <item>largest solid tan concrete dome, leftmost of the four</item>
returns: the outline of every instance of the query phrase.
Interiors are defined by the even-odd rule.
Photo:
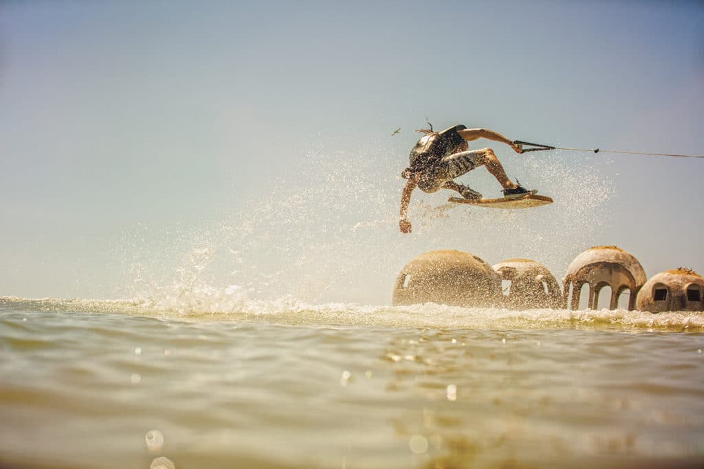
[[[434,302],[461,307],[501,304],[501,278],[467,252],[439,250],[411,259],[401,269],[394,304]]]

